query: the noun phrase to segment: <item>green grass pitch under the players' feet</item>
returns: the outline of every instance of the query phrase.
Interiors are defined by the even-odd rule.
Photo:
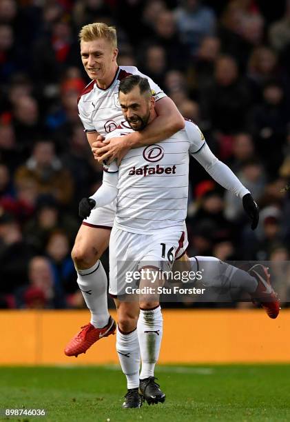
[[[160,366],[156,376],[165,403],[125,410],[114,366],[0,368],[0,408],[47,412],[12,419],[23,422],[290,421],[290,365]]]

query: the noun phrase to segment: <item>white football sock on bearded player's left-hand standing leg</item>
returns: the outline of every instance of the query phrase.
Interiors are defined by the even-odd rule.
[[[117,327],[116,350],[123,374],[127,378],[127,388],[138,388],[140,348],[137,330],[125,334]]]

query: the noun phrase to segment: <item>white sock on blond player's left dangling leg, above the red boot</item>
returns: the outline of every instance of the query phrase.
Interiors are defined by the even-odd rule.
[[[110,318],[107,310],[107,274],[103,265],[101,261],[96,261],[88,270],[76,271],[76,281],[91,312],[91,324],[95,328],[103,328]]]

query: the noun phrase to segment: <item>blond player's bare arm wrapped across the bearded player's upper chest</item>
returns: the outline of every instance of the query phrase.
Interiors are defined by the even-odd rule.
[[[144,130],[141,132],[132,132],[125,137],[111,139],[107,145],[99,148],[95,154],[98,161],[110,158],[110,161],[116,159],[120,163],[121,159],[131,148],[152,145],[153,143],[163,141],[178,132],[178,130],[184,128],[185,121],[169,97],[164,97],[157,101],[155,110],[157,113],[156,119],[152,123],[149,123]],[[100,143],[93,144],[92,151],[94,152],[94,147],[100,146]]]

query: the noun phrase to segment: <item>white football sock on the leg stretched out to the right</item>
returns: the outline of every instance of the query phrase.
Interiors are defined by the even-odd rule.
[[[203,284],[215,288],[242,289],[249,294],[255,292],[258,282],[240,268],[215,257],[192,257],[191,271],[203,271]]]

